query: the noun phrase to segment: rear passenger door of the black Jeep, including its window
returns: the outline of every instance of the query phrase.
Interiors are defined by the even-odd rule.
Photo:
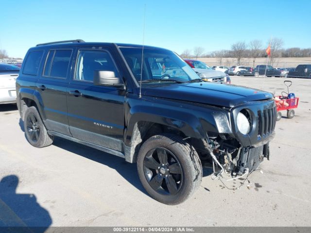
[[[45,66],[36,87],[41,96],[48,130],[71,135],[67,117],[66,89],[74,50],[57,48],[47,51]]]

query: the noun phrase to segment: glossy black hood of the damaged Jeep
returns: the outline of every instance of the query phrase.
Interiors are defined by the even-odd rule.
[[[234,107],[246,101],[267,100],[273,98],[268,92],[257,89],[201,82],[201,83],[174,83],[153,87],[141,87],[144,96],[185,100],[224,107]]]

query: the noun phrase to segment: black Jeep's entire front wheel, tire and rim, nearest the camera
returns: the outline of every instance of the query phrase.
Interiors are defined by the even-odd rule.
[[[187,200],[202,180],[196,150],[173,134],[155,135],[145,141],[138,153],[137,169],[149,195],[168,205]]]

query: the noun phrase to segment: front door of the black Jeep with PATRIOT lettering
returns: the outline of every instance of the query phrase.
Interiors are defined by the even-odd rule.
[[[94,70],[120,75],[109,48],[81,47],[67,88],[69,130],[73,137],[122,151],[125,91],[93,84]]]

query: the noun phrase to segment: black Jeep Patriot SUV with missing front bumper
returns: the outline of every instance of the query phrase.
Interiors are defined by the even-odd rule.
[[[29,143],[55,136],[137,162],[155,200],[185,201],[212,178],[239,177],[269,159],[276,106],[260,90],[202,81],[176,53],[149,46],[86,43],[31,48],[17,78]]]

